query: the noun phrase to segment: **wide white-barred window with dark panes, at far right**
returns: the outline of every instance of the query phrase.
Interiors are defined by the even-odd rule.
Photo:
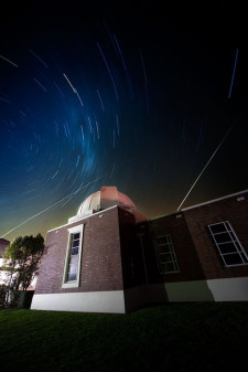
[[[248,256],[228,221],[218,222],[207,227],[224,266],[248,264]]]

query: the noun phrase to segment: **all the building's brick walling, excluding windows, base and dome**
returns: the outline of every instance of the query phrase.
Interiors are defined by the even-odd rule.
[[[248,198],[248,193],[246,194]],[[116,206],[47,233],[36,294],[122,290],[145,284],[248,276],[223,267],[206,226],[229,221],[248,253],[248,199],[230,196],[151,221]],[[80,280],[62,288],[68,228],[84,224]],[[180,272],[159,274],[155,237],[170,234]]]

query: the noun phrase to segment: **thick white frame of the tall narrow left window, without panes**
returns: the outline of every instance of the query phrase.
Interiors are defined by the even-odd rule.
[[[67,240],[67,248],[66,248],[66,256],[65,256],[65,265],[64,265],[64,274],[63,274],[63,280],[62,280],[62,288],[75,288],[79,287],[79,280],[80,280],[80,261],[82,261],[82,246],[83,246],[83,232],[84,232],[84,225],[77,225],[71,228],[67,228],[68,231],[68,240]],[[79,251],[78,251],[78,263],[77,263],[77,277],[76,280],[69,280],[67,281],[67,274],[68,274],[68,264],[71,258],[71,240],[72,235],[79,233]]]

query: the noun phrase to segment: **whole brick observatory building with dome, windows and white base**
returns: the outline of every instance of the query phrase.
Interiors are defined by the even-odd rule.
[[[32,309],[128,312],[248,300],[248,190],[147,220],[101,188],[47,233]]]

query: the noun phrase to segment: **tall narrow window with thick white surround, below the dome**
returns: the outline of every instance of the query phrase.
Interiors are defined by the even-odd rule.
[[[83,227],[83,225],[79,225],[68,228],[68,243],[62,284],[63,288],[79,286]]]

